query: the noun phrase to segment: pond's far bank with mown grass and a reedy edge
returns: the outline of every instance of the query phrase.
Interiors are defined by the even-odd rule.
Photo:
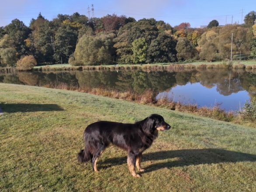
[[[60,71],[60,70],[124,70],[124,69],[256,69],[256,61],[234,61],[233,65],[228,62],[186,62],[186,63],[154,63],[143,65],[86,65],[72,66],[69,64],[55,64],[35,66],[34,70]]]

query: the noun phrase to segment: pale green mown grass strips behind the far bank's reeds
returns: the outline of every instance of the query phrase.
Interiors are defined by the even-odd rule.
[[[233,61],[234,64],[238,64],[238,61]],[[249,60],[249,61],[241,61],[241,64],[244,65],[256,65],[256,61],[253,60]],[[169,64],[175,64],[175,63],[152,63],[150,65],[169,65]],[[223,62],[186,62],[186,63],[177,63],[177,64],[192,64],[192,65],[202,65],[202,64],[206,64],[206,65],[218,65],[218,64],[223,64]],[[143,65],[148,65],[148,64],[143,64]],[[41,66],[35,66],[34,69],[37,68],[41,68],[41,67],[56,67],[56,68],[61,68],[61,67],[72,67],[72,65],[70,64],[54,64],[54,65],[41,65]],[[112,67],[112,66],[116,66],[116,65],[103,65],[106,67]],[[118,66],[122,66],[122,65],[118,65]],[[140,64],[136,64],[136,65],[132,65],[132,66],[141,66]]]

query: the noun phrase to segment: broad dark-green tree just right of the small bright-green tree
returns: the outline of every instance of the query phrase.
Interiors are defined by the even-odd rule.
[[[147,62],[163,63],[176,61],[177,41],[173,36],[160,33],[156,39],[151,41],[148,49]]]

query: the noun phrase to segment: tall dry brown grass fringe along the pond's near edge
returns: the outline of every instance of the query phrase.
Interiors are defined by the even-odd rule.
[[[200,114],[204,117],[211,117],[217,120],[224,120],[224,121],[233,121],[240,124],[255,124],[251,121],[241,121],[241,118],[236,116],[235,112],[226,112],[225,110],[221,109],[220,106],[210,107],[199,107],[197,104],[185,104],[182,102],[175,102],[173,99],[169,99],[166,96],[159,98],[156,100],[156,96],[151,89],[147,89],[143,93],[135,93],[131,90],[128,91],[117,91],[117,90],[109,90],[103,87],[97,88],[81,88],[78,86],[74,86],[72,83],[60,83],[60,82],[52,82],[43,85],[43,87],[47,88],[54,88],[54,89],[65,89],[65,90],[72,90],[72,91],[79,91],[83,93],[90,93],[93,95],[100,95],[100,96],[107,96],[112,97],[115,99],[122,99],[127,101],[133,101],[140,104],[148,104],[151,106],[159,106],[170,110],[177,110],[181,112],[189,112],[189,113],[196,113]],[[256,126],[253,126],[256,127]]]

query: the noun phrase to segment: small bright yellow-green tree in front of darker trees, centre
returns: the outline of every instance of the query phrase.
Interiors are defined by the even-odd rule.
[[[142,63],[146,60],[148,45],[145,38],[138,38],[132,42],[133,62]]]

